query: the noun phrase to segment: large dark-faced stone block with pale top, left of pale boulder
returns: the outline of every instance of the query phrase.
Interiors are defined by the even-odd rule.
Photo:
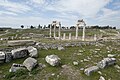
[[[13,59],[26,57],[29,52],[26,48],[18,48],[11,51]]]

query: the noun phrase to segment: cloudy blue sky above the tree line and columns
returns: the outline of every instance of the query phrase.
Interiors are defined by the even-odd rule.
[[[53,20],[72,26],[78,19],[88,26],[120,28],[120,0],[0,0],[0,26],[47,25]]]

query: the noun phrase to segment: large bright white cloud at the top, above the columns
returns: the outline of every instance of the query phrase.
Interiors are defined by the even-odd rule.
[[[48,10],[58,12],[73,12],[83,16],[94,16],[111,0],[59,0],[49,5]]]

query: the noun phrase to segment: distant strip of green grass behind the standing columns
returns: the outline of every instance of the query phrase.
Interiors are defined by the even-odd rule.
[[[108,33],[117,33],[116,30],[105,30]],[[4,32],[4,31],[3,31]],[[8,31],[8,34],[0,36],[0,38],[6,38],[10,36],[16,36],[18,37],[22,36],[22,34],[28,34],[28,33],[36,33],[36,34],[45,34],[46,36],[49,36],[49,29],[43,30],[43,29],[11,29]],[[52,36],[53,36],[53,30],[52,30]],[[63,33],[66,33],[66,36],[69,36],[69,33],[71,33],[72,36],[75,36],[76,30],[61,30],[61,36],[63,36]],[[85,31],[86,36],[94,36],[96,35],[101,35],[102,33],[100,32],[99,29],[86,29]],[[79,29],[78,35],[82,36],[82,29]],[[107,34],[103,34],[103,36],[106,36]],[[56,36],[58,36],[58,30],[56,30]],[[107,35],[109,36],[109,35]]]

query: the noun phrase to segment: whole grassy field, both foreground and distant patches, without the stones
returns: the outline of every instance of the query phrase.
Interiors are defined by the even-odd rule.
[[[11,34],[6,34],[5,36],[13,36],[18,34],[21,36],[24,33],[40,33],[49,34],[49,31],[44,30],[11,30]],[[65,31],[69,33],[69,31]],[[70,31],[72,32],[72,31]],[[110,31],[109,31],[110,32]],[[100,34],[99,30],[88,31],[87,35],[93,35],[94,33]],[[113,31],[114,33],[114,31]],[[75,32],[73,32],[75,34]],[[1,36],[4,37],[4,36]],[[38,40],[38,39],[37,39]],[[52,41],[52,40],[39,40],[45,43],[64,43],[68,41]],[[6,41],[1,41],[1,44],[6,43]],[[0,46],[0,48],[9,48],[8,46]],[[109,50],[108,50],[109,48]],[[99,50],[97,50],[99,49]],[[81,52],[82,51],[82,52]],[[109,52],[108,52],[109,51]],[[65,47],[64,51],[58,51],[57,49],[41,50],[38,49],[39,57],[36,58],[38,63],[45,64],[46,67],[41,69],[40,67],[34,68],[31,72],[27,70],[19,70],[16,73],[9,73],[9,69],[13,63],[22,64],[27,58],[15,59],[10,63],[0,64],[0,80],[99,80],[100,76],[103,76],[106,80],[120,80],[120,69],[114,66],[109,66],[103,70],[99,70],[102,74],[98,72],[93,73],[91,76],[86,76],[81,68],[87,68],[95,66],[96,63],[101,61],[103,58],[107,57],[108,54],[116,54],[117,65],[120,66],[120,43],[116,41],[101,42],[98,45],[83,45],[81,47]],[[61,58],[61,65],[57,67],[52,67],[46,63],[45,57],[50,54],[56,54]],[[90,58],[89,61],[84,61],[84,59]],[[83,62],[81,62],[81,60]],[[79,63],[78,66],[73,65],[73,61]],[[64,69],[61,66],[67,65]]]

